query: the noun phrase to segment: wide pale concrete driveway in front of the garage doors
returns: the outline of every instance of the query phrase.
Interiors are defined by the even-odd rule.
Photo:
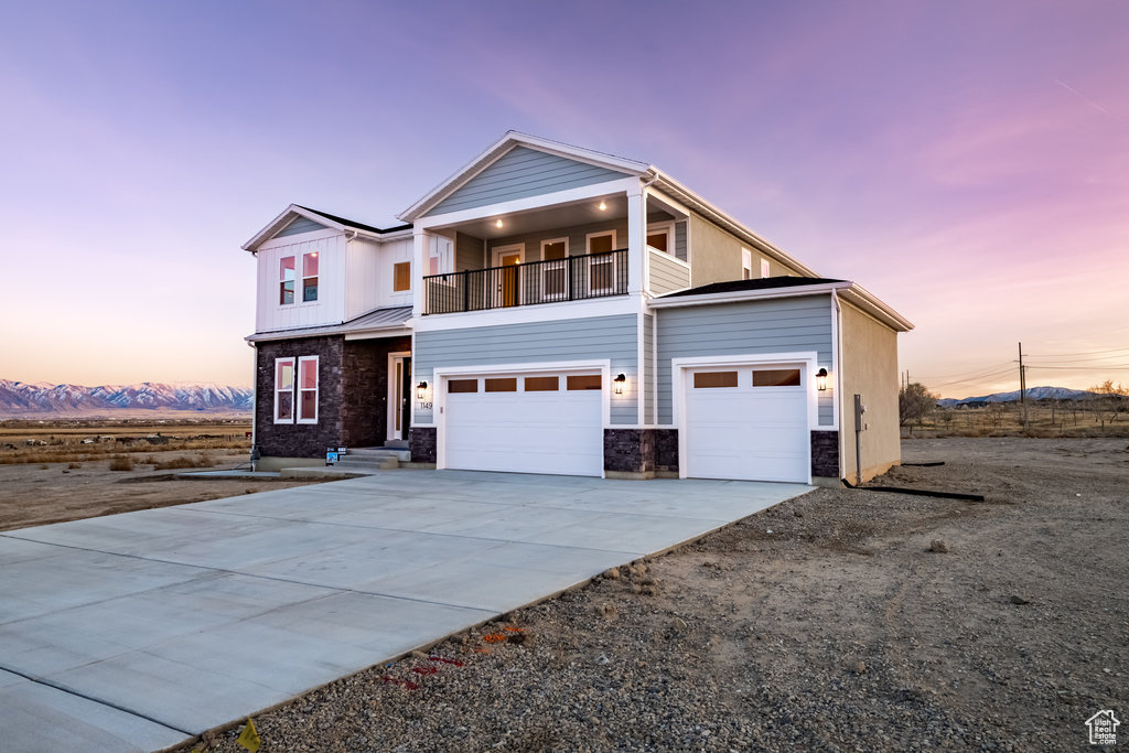
[[[175,745],[809,491],[393,471],[0,534],[0,741]]]

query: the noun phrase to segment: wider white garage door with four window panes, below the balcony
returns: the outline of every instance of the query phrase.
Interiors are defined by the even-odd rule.
[[[603,473],[599,374],[448,377],[446,392],[446,467]]]

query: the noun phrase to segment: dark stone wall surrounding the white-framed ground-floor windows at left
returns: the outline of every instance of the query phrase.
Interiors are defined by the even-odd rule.
[[[324,457],[342,444],[343,351],[340,335],[255,343],[255,444],[264,457]],[[303,356],[317,356],[317,423],[274,423],[274,359]]]

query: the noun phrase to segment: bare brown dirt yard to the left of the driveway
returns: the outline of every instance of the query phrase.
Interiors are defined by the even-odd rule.
[[[133,461],[132,470],[110,470],[114,461],[108,457],[73,463],[0,464],[0,531],[309,483],[237,479],[186,481],[175,478],[177,473],[193,470],[233,469],[247,461],[245,452],[146,452],[121,455]],[[177,458],[201,462],[204,457],[213,465],[202,469],[154,470],[155,463],[169,464]]]

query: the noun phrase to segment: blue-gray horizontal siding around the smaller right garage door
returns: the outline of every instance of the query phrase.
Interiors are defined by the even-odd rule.
[[[658,422],[674,420],[671,359],[815,351],[831,370],[831,298],[667,308],[658,313]],[[834,422],[834,394],[819,396],[820,426]]]

